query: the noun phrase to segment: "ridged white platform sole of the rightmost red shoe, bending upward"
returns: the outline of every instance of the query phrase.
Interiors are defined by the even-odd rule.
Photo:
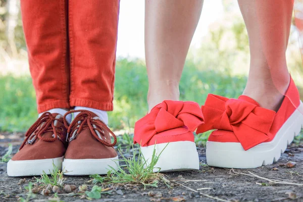
[[[274,139],[244,150],[239,142],[214,142],[206,144],[206,159],[209,166],[223,168],[257,168],[278,161],[287,144],[303,127],[303,103],[283,124]]]

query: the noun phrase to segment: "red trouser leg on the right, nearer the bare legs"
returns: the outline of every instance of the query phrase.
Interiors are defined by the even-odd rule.
[[[119,0],[69,1],[71,107],[113,110]]]

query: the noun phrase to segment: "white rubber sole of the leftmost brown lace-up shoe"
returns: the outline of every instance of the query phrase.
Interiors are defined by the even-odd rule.
[[[53,162],[60,170],[62,169],[63,159],[64,157],[26,161],[10,160],[7,165],[8,176],[35,176],[41,175],[43,171],[49,175],[54,169]]]

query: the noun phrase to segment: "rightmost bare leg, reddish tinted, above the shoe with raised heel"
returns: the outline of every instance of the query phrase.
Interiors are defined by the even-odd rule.
[[[279,109],[289,84],[285,51],[293,2],[238,0],[249,38],[250,70],[244,95],[261,107]]]

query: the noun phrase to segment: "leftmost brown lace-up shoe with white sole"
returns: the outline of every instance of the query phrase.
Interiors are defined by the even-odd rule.
[[[8,162],[9,176],[50,174],[53,163],[62,168],[66,150],[67,129],[63,116],[45,112],[25,133],[18,153]]]

